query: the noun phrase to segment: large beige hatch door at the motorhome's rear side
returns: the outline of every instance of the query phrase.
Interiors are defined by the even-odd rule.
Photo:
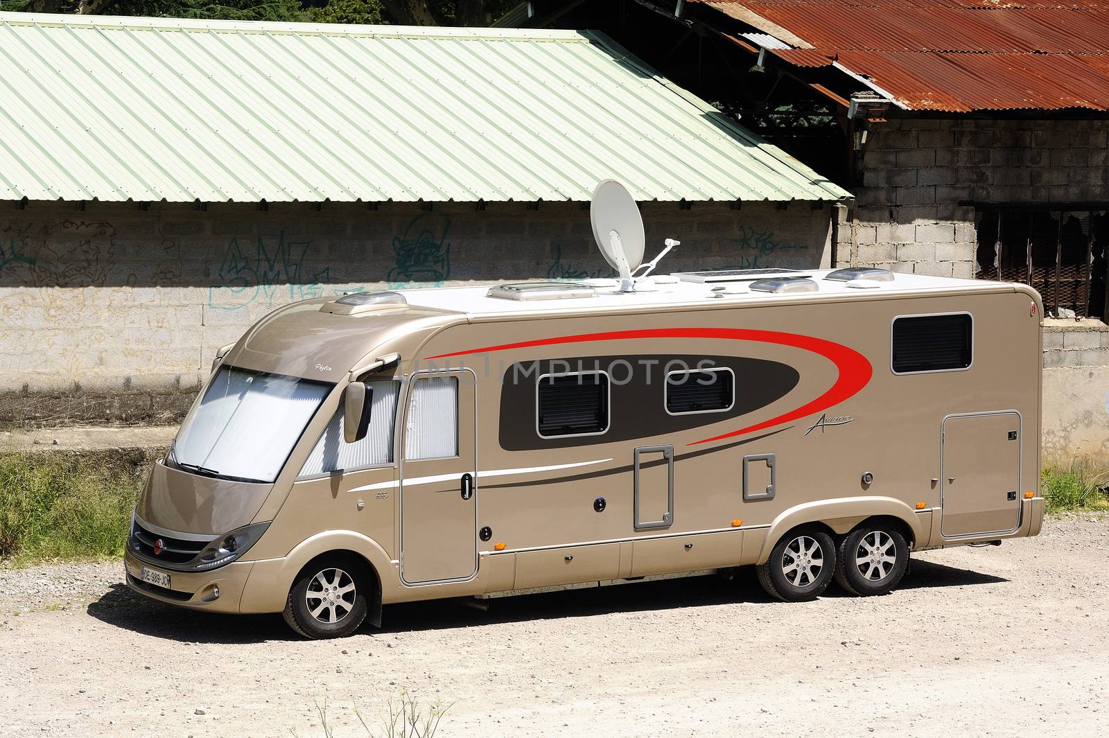
[[[944,537],[1006,533],[1019,526],[1020,433],[1016,412],[944,419]]]

